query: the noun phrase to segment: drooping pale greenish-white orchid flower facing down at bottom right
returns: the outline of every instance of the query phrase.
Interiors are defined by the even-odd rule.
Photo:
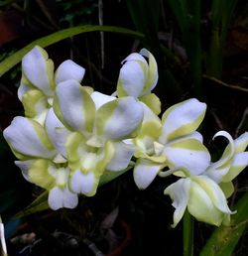
[[[217,183],[204,175],[182,178],[164,193],[171,196],[176,208],[173,227],[180,222],[186,208],[198,221],[216,226],[228,224],[230,214],[235,213],[229,209],[225,194]]]

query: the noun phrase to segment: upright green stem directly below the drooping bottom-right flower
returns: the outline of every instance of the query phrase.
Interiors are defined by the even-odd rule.
[[[193,218],[186,210],[184,225],[184,256],[193,256]]]

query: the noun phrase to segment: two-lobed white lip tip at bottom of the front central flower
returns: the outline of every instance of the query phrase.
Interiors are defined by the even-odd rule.
[[[75,171],[70,178],[71,191],[82,193],[87,196],[95,194],[97,185],[97,179],[92,172],[85,175],[80,171]]]

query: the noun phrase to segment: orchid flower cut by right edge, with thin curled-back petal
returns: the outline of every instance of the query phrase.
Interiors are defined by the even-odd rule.
[[[248,132],[243,133],[233,140],[231,135],[225,131],[217,132],[217,136],[225,137],[229,143],[221,158],[206,169],[205,175],[214,180],[230,196],[233,192],[232,180],[235,179],[248,165]]]

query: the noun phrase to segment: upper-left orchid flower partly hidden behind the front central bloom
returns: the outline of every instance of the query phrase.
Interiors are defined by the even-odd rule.
[[[56,84],[67,79],[80,82],[84,72],[83,67],[67,60],[54,73],[53,61],[44,49],[36,46],[22,60],[18,97],[24,105],[25,115],[43,124],[53,105]]]

